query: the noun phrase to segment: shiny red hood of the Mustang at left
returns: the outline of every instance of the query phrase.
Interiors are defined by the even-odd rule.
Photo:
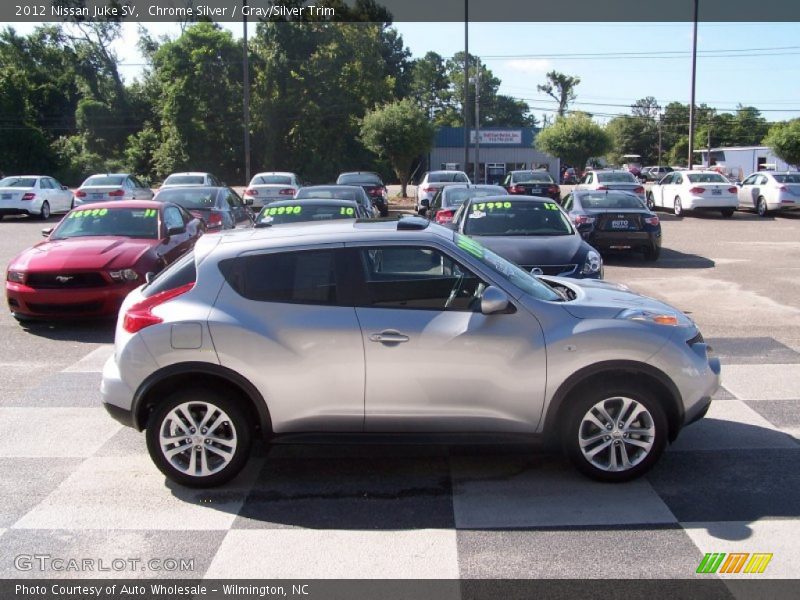
[[[46,240],[19,254],[9,268],[25,271],[126,269],[159,240],[103,236]]]

